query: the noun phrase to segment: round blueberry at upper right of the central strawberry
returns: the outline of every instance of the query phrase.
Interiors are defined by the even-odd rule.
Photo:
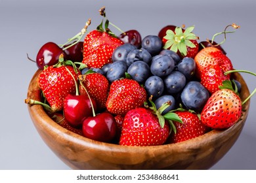
[[[144,86],[145,86],[146,93],[148,94],[148,97],[153,95],[153,99],[157,99],[163,94],[163,90],[164,90],[163,80],[158,76],[150,76],[146,80]]]

